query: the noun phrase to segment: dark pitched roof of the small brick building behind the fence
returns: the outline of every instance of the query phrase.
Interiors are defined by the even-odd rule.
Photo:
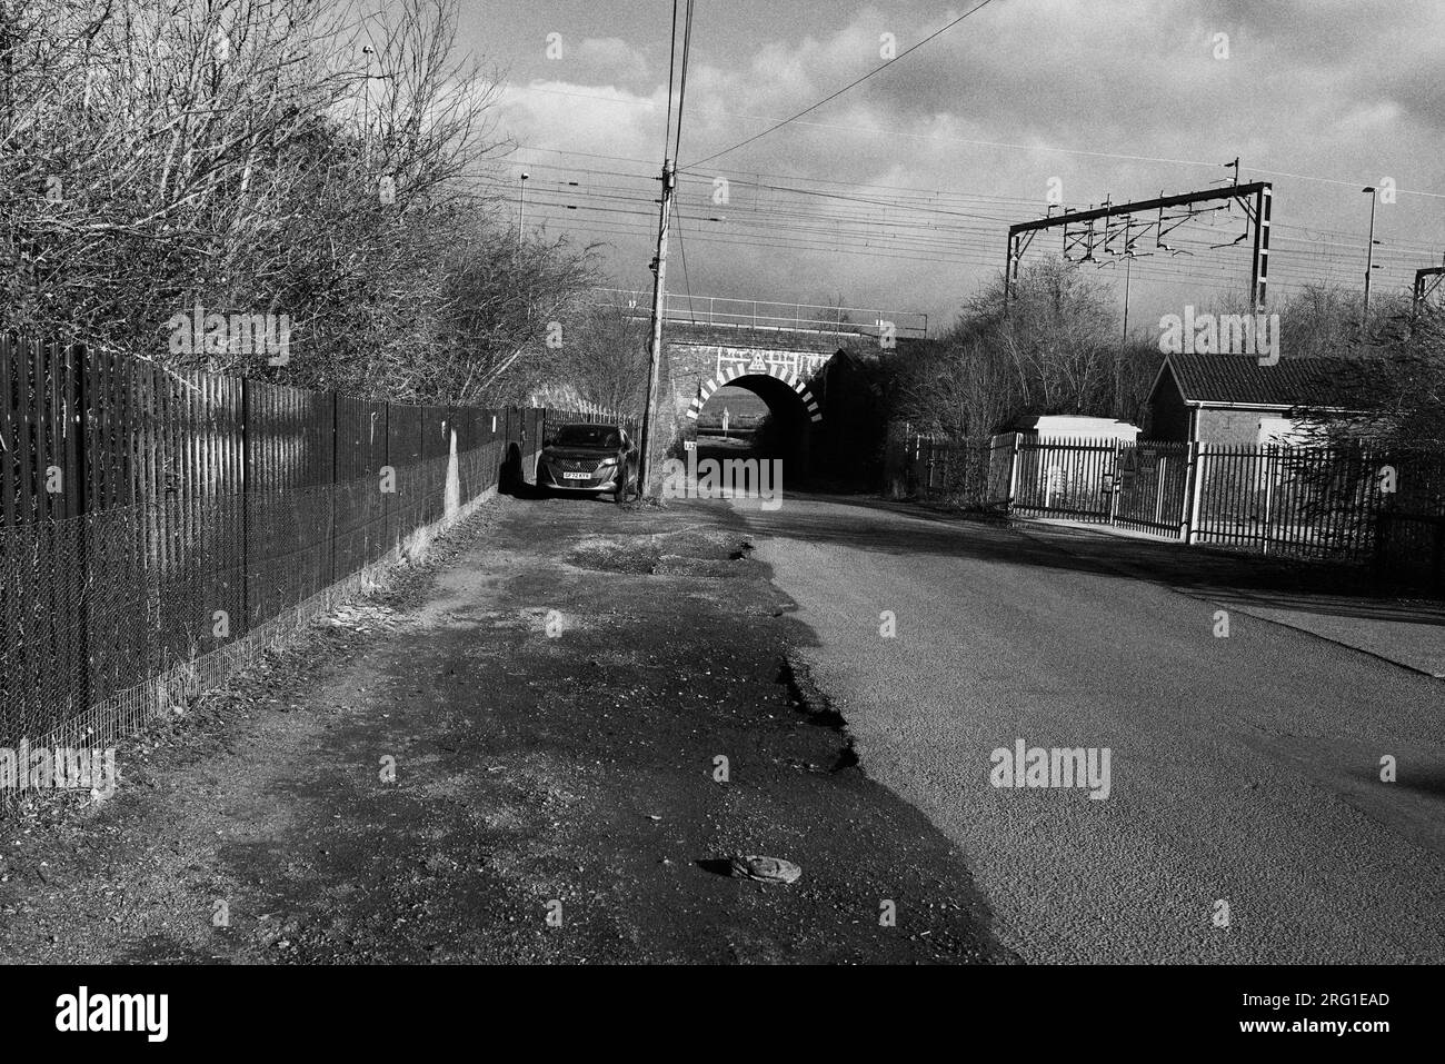
[[[1189,403],[1279,408],[1347,403],[1338,359],[1280,359],[1273,366],[1260,366],[1247,354],[1168,354],[1159,367],[1160,377],[1165,369],[1173,370]]]

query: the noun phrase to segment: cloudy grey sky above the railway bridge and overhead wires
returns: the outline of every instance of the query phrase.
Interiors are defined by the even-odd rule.
[[[975,3],[698,0],[669,291],[919,311],[936,332],[1051,192],[1085,208],[1218,188],[1235,158],[1241,182],[1273,182],[1272,295],[1358,289],[1371,200],[1376,293],[1445,262],[1439,0],[990,0],[725,150]],[[517,145],[488,179],[516,197],[527,172],[529,233],[604,244],[618,288],[652,285],[672,9],[462,0],[458,45],[504,81]],[[1221,204],[1163,240],[1175,253],[1136,243],[1133,328],[1247,293],[1246,224]],[[1051,230],[1023,262],[1062,246]],[[1124,263],[1081,269],[1123,306]]]

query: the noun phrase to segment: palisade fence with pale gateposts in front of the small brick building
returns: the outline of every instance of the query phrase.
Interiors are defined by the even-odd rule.
[[[1267,554],[1371,562],[1445,580],[1445,454],[1367,447],[1235,447],[907,435],[894,493],[970,509],[1094,520]]]

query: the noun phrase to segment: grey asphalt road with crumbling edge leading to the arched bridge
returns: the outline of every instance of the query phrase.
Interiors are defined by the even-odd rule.
[[[1445,960],[1441,681],[1243,613],[1217,638],[1217,604],[1066,536],[734,506],[863,769],[959,847],[1025,960]],[[991,785],[1020,739],[1108,747],[1108,798]]]

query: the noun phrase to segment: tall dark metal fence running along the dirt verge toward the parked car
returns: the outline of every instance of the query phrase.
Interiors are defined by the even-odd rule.
[[[0,337],[0,746],[108,742],[218,682],[523,480],[548,416]]]

